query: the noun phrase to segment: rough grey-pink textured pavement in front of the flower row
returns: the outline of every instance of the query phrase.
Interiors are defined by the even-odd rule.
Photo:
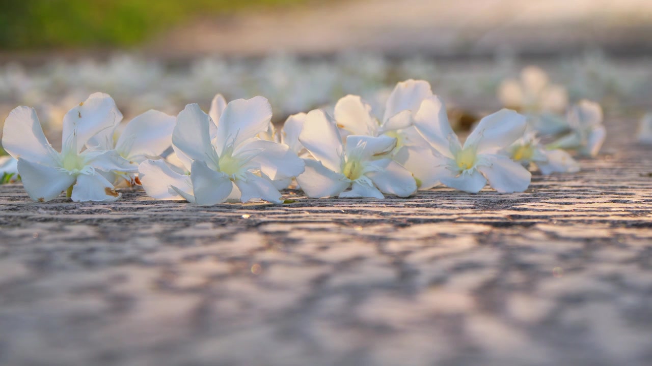
[[[0,365],[652,365],[652,154],[525,193],[198,207],[0,186]]]

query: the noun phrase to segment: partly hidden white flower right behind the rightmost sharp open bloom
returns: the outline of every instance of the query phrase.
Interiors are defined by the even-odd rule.
[[[551,173],[577,173],[580,164],[564,150],[547,150],[537,138],[537,132],[530,131],[506,150],[507,156],[524,167],[534,165],[543,175]]]

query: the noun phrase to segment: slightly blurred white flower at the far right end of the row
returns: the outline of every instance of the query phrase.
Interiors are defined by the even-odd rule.
[[[602,107],[589,100],[580,100],[567,115],[571,132],[548,148],[577,150],[582,156],[595,157],[600,152],[606,137],[602,124]]]

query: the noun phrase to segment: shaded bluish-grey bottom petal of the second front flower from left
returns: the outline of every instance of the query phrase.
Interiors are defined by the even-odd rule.
[[[198,160],[192,162],[190,180],[196,203],[205,206],[224,202],[233,187],[228,175],[214,171]]]

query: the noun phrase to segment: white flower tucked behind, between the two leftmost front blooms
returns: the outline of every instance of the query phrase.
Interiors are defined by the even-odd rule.
[[[138,171],[138,165],[147,160],[154,159],[163,154],[172,145],[172,130],[175,117],[166,113],[150,109],[130,120],[115,139],[118,126],[107,129],[91,137],[86,143],[90,150],[114,150],[132,166],[133,171]],[[105,175],[106,176],[106,175]],[[138,182],[134,173],[116,171],[106,176],[114,184],[120,179],[128,184]]]

